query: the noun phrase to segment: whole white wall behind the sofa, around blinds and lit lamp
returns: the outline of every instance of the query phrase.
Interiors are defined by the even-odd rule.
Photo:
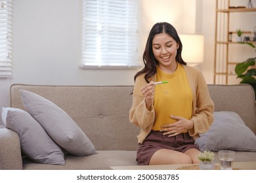
[[[14,83],[133,85],[138,70],[79,68],[80,7],[80,0],[13,0],[13,76],[0,78],[0,107],[9,106]],[[156,22],[169,22],[178,33],[205,34],[200,68],[207,82],[213,81],[214,1],[142,0],[140,18],[140,55]]]

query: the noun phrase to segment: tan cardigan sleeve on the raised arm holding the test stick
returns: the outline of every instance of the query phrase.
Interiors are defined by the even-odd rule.
[[[152,127],[155,119],[154,107],[149,111],[146,108],[146,102],[140,89],[146,84],[143,75],[140,75],[135,80],[133,89],[133,105],[129,112],[130,121],[139,126],[142,130]]]

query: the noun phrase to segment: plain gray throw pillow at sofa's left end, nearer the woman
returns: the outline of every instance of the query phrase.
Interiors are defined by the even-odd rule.
[[[28,113],[66,152],[76,156],[95,154],[95,146],[62,108],[26,90],[20,90],[20,95]]]

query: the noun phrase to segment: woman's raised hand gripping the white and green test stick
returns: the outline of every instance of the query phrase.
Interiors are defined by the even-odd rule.
[[[146,102],[146,108],[148,110],[151,110],[152,104],[154,101],[154,93],[155,93],[155,84],[154,82],[149,82],[145,86],[141,88],[142,95],[144,95],[145,102]]]

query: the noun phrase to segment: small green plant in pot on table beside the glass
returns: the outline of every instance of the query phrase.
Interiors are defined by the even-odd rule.
[[[204,151],[198,154],[198,159],[200,160],[199,168],[200,170],[214,170],[214,152]]]

